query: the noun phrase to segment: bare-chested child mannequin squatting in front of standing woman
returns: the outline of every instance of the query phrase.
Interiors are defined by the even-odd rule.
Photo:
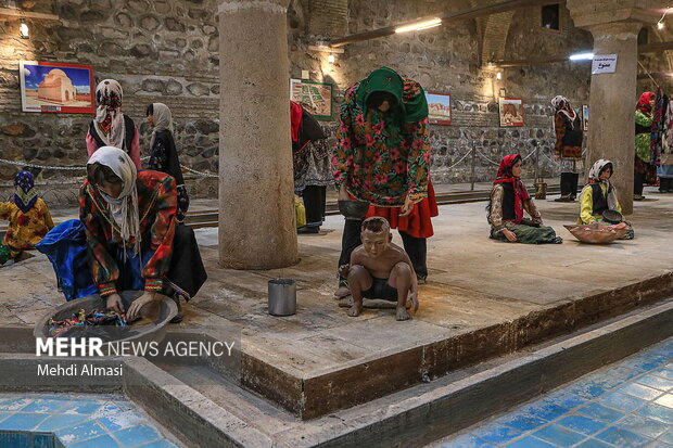
[[[353,306],[348,316],[359,316],[363,298],[382,298],[397,302],[397,320],[408,320],[407,302],[418,310],[418,282],[411,260],[404,249],[392,243],[390,223],[385,218],[365,219],[360,239],[363,244],[351,254],[351,265],[340,268],[348,278]]]

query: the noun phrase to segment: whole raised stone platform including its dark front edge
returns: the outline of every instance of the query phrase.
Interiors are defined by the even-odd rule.
[[[484,203],[441,207],[429,240],[430,278],[408,322],[394,310],[350,318],[332,298],[342,219],[300,239],[302,261],[276,271],[217,267],[216,229],[198,231],[209,279],[178,325],[233,322],[242,332],[242,384],[302,419],[314,419],[427,382],[655,302],[673,290],[673,197],[636,204],[636,240],[583,245],[563,228],[577,204],[542,201],[566,242],[526,246],[488,240]],[[398,235],[395,234],[398,241]],[[267,281],[299,283],[296,316],[266,312]],[[7,324],[31,325],[62,303],[40,256],[0,269]],[[176,372],[178,374],[178,372]],[[189,375],[183,377],[188,382]],[[198,385],[193,385],[199,389]],[[218,401],[217,392],[202,393]],[[244,412],[244,411],[242,411]]]

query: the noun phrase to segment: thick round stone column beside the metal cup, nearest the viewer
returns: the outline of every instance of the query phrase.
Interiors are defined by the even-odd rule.
[[[290,138],[290,0],[219,5],[219,264],[299,260]]]

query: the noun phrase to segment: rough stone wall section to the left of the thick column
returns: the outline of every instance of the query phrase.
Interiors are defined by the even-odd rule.
[[[37,2],[36,8],[45,3]],[[53,61],[89,64],[97,84],[104,78],[122,84],[122,111],[136,121],[143,153],[150,137],[145,107],[166,103],[175,117],[181,162],[217,172],[216,11],[216,0],[54,0],[48,12],[63,22],[28,20],[27,40],[17,36],[17,20],[0,16],[1,157],[48,166],[86,163],[90,116],[21,112],[18,61]],[[0,164],[0,182],[10,181],[15,170]],[[39,180],[72,176],[72,171],[38,172]],[[216,192],[192,178],[188,176],[191,190],[203,187],[203,193]]]

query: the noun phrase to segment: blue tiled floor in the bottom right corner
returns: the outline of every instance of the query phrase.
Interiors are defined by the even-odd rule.
[[[673,447],[673,338],[428,448]]]

